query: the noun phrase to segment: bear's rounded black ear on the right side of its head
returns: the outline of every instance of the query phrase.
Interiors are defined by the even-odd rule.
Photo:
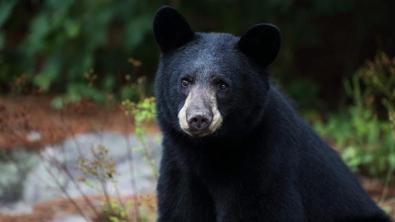
[[[276,58],[280,43],[280,31],[276,26],[258,24],[240,37],[237,46],[246,56],[267,67]]]

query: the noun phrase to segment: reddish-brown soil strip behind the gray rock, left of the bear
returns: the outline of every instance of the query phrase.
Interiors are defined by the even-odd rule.
[[[121,106],[104,106],[89,101],[69,104],[56,111],[49,96],[0,97],[0,148],[18,146],[40,148],[77,133],[88,131],[133,132],[133,122]],[[155,123],[148,133],[158,132]],[[29,140],[38,132],[39,140]]]

